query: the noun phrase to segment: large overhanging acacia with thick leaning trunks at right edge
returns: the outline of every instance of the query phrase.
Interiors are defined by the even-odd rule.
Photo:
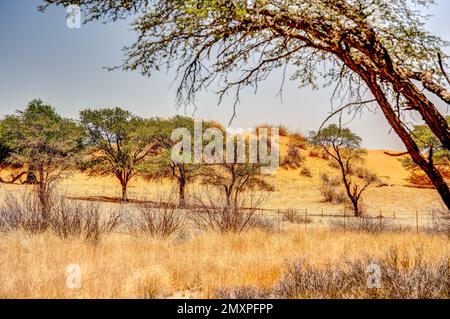
[[[417,7],[434,0],[44,0],[79,4],[86,20],[135,16],[138,40],[121,66],[150,75],[162,65],[180,74],[180,102],[214,80],[220,98],[256,86],[275,69],[293,66],[292,79],[317,86],[318,75],[334,83],[344,109],[375,103],[403,141],[414,163],[450,208],[450,189],[410,133],[421,116],[440,145],[450,149],[444,116],[423,92],[450,103],[444,67],[447,43],[424,27]],[[325,70],[322,72],[322,70]],[[233,79],[235,73],[240,74]],[[233,74],[233,76],[231,75]],[[216,82],[217,82],[216,81]],[[368,97],[371,95],[371,97]]]

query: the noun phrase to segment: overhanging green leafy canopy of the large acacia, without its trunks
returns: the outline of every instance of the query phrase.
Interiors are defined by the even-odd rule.
[[[357,83],[333,50],[344,35],[353,37],[352,45],[370,47],[367,31],[374,32],[395,64],[411,71],[439,70],[436,57],[438,53],[445,57],[441,48],[446,42],[425,29],[427,17],[418,10],[434,2],[45,0],[41,9],[77,3],[87,20],[135,17],[133,27],[139,37],[127,48],[122,67],[145,75],[164,66],[179,68],[185,72],[180,86],[185,90],[179,93],[190,100],[212,79],[223,79],[224,90],[239,90],[286,64],[294,66],[292,79],[302,86],[317,87],[319,76],[331,81],[344,76]],[[366,58],[358,50],[350,54],[355,60]],[[254,56],[260,65],[253,62]],[[242,72],[238,81],[227,77],[234,71]]]

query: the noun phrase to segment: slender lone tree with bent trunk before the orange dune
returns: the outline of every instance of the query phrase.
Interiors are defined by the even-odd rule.
[[[366,151],[361,149],[361,141],[361,138],[348,128],[341,128],[335,124],[311,133],[311,142],[322,147],[338,164],[345,191],[356,217],[363,216],[360,206],[361,195],[370,185],[379,181],[379,178],[370,172],[366,172],[360,181],[352,178],[355,164],[361,163],[366,156]]]

